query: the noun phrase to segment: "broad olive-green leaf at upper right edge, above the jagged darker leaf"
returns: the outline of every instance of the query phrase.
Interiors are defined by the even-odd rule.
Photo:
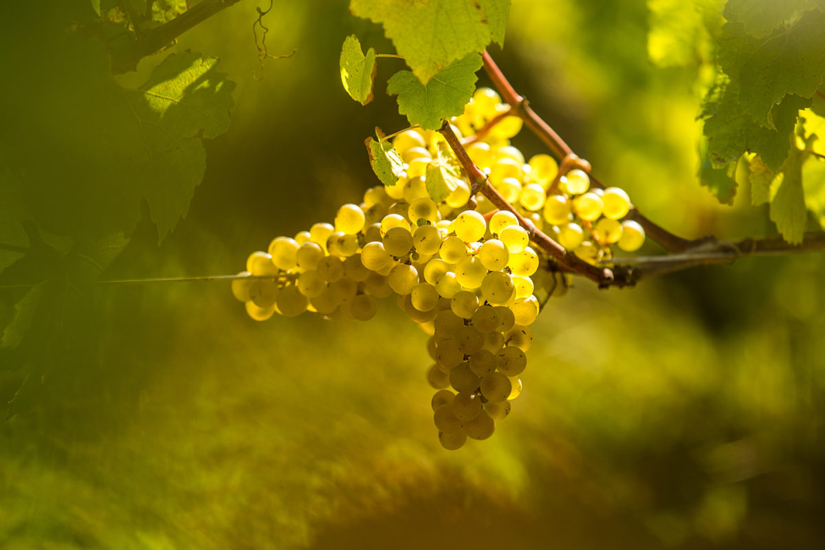
[[[786,94],[809,98],[825,75],[825,13],[805,12],[790,29],[766,38],[748,36],[728,22],[719,38],[719,64],[738,82],[742,110],[774,129],[774,106]]]

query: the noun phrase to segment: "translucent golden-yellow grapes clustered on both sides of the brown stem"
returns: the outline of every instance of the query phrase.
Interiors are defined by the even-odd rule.
[[[451,124],[513,209],[591,263],[610,259],[613,244],[638,249],[643,229],[622,220],[627,194],[591,188],[580,170],[560,175],[549,155],[525,162],[510,144],[521,119],[502,115],[506,109],[481,88]],[[407,129],[392,144],[403,161],[397,183],[366,190],[361,204],[344,204],[333,223],[252,252],[233,294],[259,321],[304,311],[366,321],[376,299],[396,294],[399,308],[431,336],[433,420],[442,446],[459,449],[467,438],[493,435],[495,421],[509,414],[533,341],[529,326],[547,298],[566,292],[568,275],[530,246],[515,214],[482,195],[469,208],[470,186],[455,157],[464,177],[433,200],[427,169],[445,162],[441,134]]]

